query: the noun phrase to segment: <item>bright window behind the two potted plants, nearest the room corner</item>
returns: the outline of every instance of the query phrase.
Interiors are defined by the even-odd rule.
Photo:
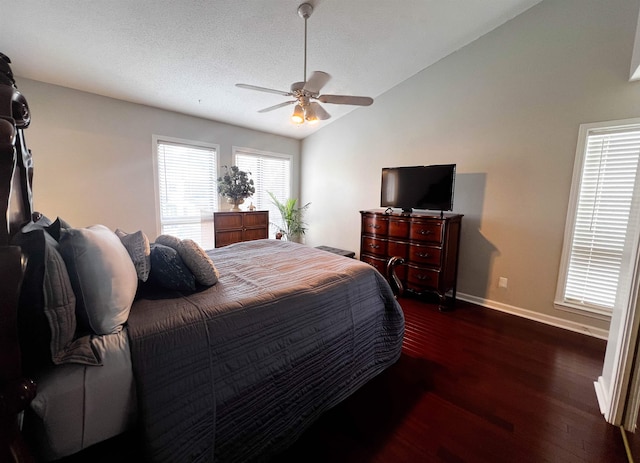
[[[280,221],[280,212],[271,202],[268,192],[271,192],[279,201],[285,201],[291,197],[291,165],[292,156],[261,151],[234,148],[235,163],[244,171],[251,172],[251,178],[256,187],[251,201],[257,209],[269,211],[269,220],[272,223]],[[270,227],[269,236],[273,238],[276,227]]]

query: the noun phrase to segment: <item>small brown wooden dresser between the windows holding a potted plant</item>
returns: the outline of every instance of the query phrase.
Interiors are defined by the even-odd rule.
[[[269,211],[214,212],[215,246],[269,237]]]

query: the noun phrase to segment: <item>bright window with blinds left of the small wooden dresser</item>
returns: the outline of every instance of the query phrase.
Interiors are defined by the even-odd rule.
[[[216,145],[154,137],[160,233],[214,247]]]

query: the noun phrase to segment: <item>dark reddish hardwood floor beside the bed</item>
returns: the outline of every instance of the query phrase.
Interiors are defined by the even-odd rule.
[[[400,303],[400,360],[272,463],[628,461],[593,387],[605,341],[464,302]],[[140,461],[115,443],[64,462]]]

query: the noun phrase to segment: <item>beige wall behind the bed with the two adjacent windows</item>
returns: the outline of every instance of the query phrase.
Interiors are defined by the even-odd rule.
[[[25,139],[35,165],[34,208],[52,219],[141,229],[154,239],[153,135],[218,144],[219,166],[232,164],[233,146],[293,155],[299,189],[298,140],[28,79],[17,85],[32,114]]]

